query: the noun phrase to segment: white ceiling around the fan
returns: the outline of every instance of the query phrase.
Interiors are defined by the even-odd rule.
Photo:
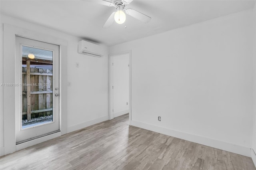
[[[112,0],[116,1],[116,0]],[[134,0],[127,8],[152,18],[144,24],[126,15],[125,24],[102,28],[114,7],[96,0],[0,0],[2,14],[85,40],[115,45],[253,8],[254,0]]]

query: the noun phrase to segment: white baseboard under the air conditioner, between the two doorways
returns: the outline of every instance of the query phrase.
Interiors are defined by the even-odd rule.
[[[74,125],[74,126],[68,127],[68,133],[74,132],[74,131],[79,130],[81,128],[85,128],[85,127],[94,125],[96,123],[104,122],[104,121],[107,121],[107,120],[109,120],[108,116],[104,116],[104,117],[100,117],[98,119],[93,119],[91,121],[80,123],[78,125]]]

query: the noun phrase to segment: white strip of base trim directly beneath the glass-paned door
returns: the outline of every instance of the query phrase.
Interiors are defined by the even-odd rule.
[[[42,143],[46,140],[56,138],[60,135],[61,135],[60,132],[56,132],[56,133],[53,133],[53,134],[49,134],[47,136],[43,136],[43,137],[40,137],[40,138],[37,138],[37,139],[30,140],[28,142],[24,142],[24,143],[21,143],[21,144],[16,144],[16,151],[27,148],[29,146],[33,146],[33,145],[38,144],[38,143]]]

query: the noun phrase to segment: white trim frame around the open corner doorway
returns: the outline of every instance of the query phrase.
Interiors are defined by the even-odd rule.
[[[122,54],[129,54],[129,125],[131,125],[132,121],[132,51],[124,51],[121,53],[114,53],[110,54],[108,61],[109,61],[109,66],[108,66],[108,71],[109,71],[109,76],[108,76],[108,84],[109,84],[109,102],[108,102],[108,115],[109,115],[109,120],[114,119],[114,113],[113,113],[113,106],[114,106],[114,100],[113,100],[113,57],[117,55],[122,55]]]

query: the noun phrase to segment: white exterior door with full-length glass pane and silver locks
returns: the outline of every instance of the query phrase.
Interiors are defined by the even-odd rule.
[[[60,129],[59,45],[16,36],[16,144]]]

